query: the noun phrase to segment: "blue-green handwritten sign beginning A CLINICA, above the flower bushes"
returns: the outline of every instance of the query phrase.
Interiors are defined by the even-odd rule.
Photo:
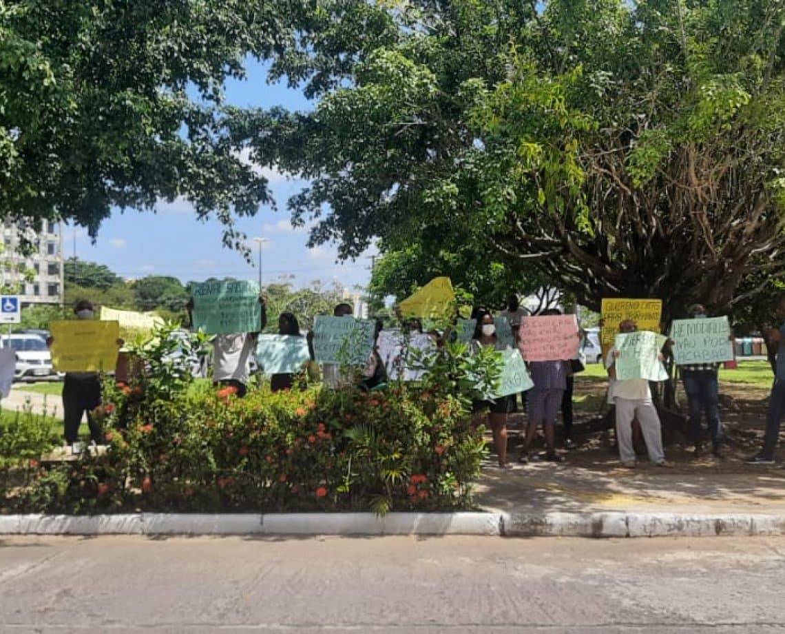
[[[374,322],[354,317],[317,315],[313,351],[318,363],[364,365],[374,350]]]

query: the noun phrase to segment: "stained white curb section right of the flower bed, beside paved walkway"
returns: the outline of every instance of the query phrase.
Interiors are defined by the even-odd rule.
[[[507,537],[750,537],[785,535],[785,515],[717,513],[505,513]]]

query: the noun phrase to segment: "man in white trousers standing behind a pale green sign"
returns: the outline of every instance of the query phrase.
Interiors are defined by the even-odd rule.
[[[637,324],[627,319],[619,324],[619,332],[635,332]],[[619,457],[624,467],[635,467],[633,448],[633,419],[641,424],[649,460],[657,467],[669,467],[663,452],[663,436],[659,425],[659,415],[652,402],[652,390],[646,379],[616,379],[615,361],[619,350],[614,346],[608,350],[605,367],[611,377],[610,397],[616,406],[616,439],[619,442]]]

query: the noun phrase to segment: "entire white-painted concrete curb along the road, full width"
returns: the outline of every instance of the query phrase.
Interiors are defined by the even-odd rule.
[[[646,512],[0,515],[0,535],[785,535],[785,515]]]

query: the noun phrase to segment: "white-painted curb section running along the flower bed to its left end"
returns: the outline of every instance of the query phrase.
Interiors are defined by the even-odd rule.
[[[500,513],[3,515],[0,535],[500,535]]]

